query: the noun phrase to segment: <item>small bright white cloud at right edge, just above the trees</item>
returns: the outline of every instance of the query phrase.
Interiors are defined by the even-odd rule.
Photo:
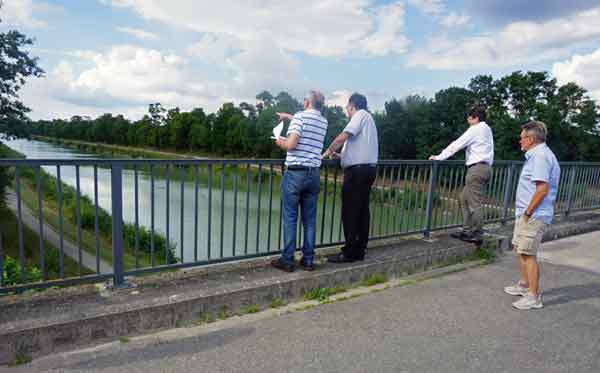
[[[552,66],[552,75],[559,84],[575,82],[600,101],[600,49],[585,55],[574,55]]]

